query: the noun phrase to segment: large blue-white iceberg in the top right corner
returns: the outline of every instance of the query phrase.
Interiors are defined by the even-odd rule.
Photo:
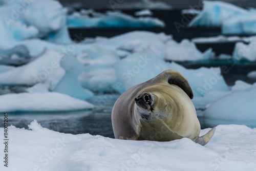
[[[189,27],[221,27],[223,34],[255,34],[256,11],[221,1],[204,1],[203,10]]]

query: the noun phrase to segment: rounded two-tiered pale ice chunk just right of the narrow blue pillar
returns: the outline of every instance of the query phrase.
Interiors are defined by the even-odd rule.
[[[87,54],[82,63],[84,72],[79,77],[83,88],[94,92],[109,92],[116,81],[116,71],[113,65],[119,61],[118,54],[101,46],[93,46],[84,50]]]

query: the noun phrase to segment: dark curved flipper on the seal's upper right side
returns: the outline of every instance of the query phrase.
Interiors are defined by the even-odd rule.
[[[162,72],[164,78],[167,79],[169,84],[175,84],[180,87],[190,99],[193,99],[193,91],[187,81],[187,79],[178,71],[175,70],[166,70]]]

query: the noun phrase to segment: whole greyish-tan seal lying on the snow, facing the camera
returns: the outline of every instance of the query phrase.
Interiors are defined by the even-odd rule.
[[[199,137],[200,123],[192,98],[187,79],[174,70],[130,88],[113,106],[115,138],[172,141],[186,137],[206,144],[215,129],[205,135],[208,139]]]

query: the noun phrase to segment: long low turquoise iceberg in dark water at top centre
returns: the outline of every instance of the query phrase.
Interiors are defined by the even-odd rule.
[[[90,16],[93,14],[94,16]],[[133,17],[121,12],[108,11],[105,14],[94,12],[81,14],[78,12],[69,15],[69,28],[152,28],[164,27],[162,20],[152,17]]]

